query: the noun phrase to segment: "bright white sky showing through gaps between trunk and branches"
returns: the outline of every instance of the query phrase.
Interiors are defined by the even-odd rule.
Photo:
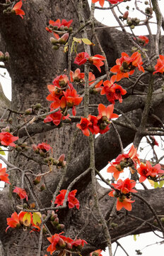
[[[88,2],[90,4],[91,0],[88,0]],[[144,19],[145,17],[142,16],[139,13],[139,11],[133,11],[132,10],[132,8],[133,8],[132,5],[133,4],[134,4],[134,0],[122,3],[123,8],[121,9],[121,7],[120,7],[122,13],[124,13],[124,11],[127,11],[126,6],[128,5],[128,6],[130,6],[129,16],[131,18],[135,18],[137,16],[141,20]],[[160,5],[160,10],[163,12],[163,15],[164,15],[164,0],[158,1],[158,4]],[[100,4],[97,3],[97,4],[95,4],[95,6],[100,7]],[[104,6],[107,7],[109,5],[108,5],[107,2],[105,2]],[[140,9],[142,9],[144,11],[144,9],[146,7],[147,6],[145,4],[141,4],[141,1],[139,1],[139,8]],[[154,13],[153,13],[153,16],[155,16]],[[107,11],[95,10],[95,18],[97,18],[98,21],[100,21],[101,23],[104,23],[106,26],[118,26],[117,21],[115,21],[115,18],[112,16],[112,13],[111,13],[110,10],[107,10]],[[156,21],[156,20],[152,19],[152,21]],[[153,34],[155,34],[156,33],[156,25],[155,24],[151,25],[151,28],[152,28]],[[139,26],[138,28],[135,28],[133,31],[138,36],[148,34],[146,26],[143,26],[143,27]],[[3,63],[0,63],[0,65],[2,65],[2,64]],[[8,73],[6,72],[6,75],[4,75],[4,72],[6,72],[6,70],[0,68],[0,82],[1,82],[1,85],[3,86],[4,93],[5,93],[6,97],[8,97],[8,99],[11,100],[11,79],[10,79]],[[2,75],[4,75],[4,77]],[[155,149],[158,149],[158,147],[155,146]],[[158,156],[159,155],[161,156],[162,154],[163,154],[163,151],[158,150]],[[147,157],[148,157],[148,159],[150,159],[151,155],[149,154]],[[143,153],[141,153],[141,158],[144,158]],[[105,175],[105,178],[109,178],[109,174],[107,174],[106,169],[107,168],[105,168],[102,171],[102,174]],[[0,184],[0,186],[1,186],[1,184]],[[148,181],[146,183],[146,186],[149,186]],[[132,207],[134,207],[134,206],[132,206]],[[158,234],[160,235],[160,233],[158,233]],[[146,233],[146,234],[139,235],[139,237],[137,236],[136,237],[136,242],[134,241],[133,236],[128,236],[126,238],[122,238],[122,239],[119,240],[119,242],[124,247],[124,249],[127,250],[129,256],[134,256],[134,255],[136,255],[135,250],[141,250],[144,247],[146,247],[146,245],[151,245],[151,244],[154,244],[156,242],[160,242],[161,240],[162,239],[153,235],[153,233]],[[114,243],[112,246],[113,246],[113,253],[114,253],[116,244]],[[164,255],[164,245],[152,245],[152,246],[144,248],[144,250],[142,250],[141,252],[143,253],[142,254],[143,256],[151,256],[151,255],[163,256]],[[103,255],[106,256],[107,252],[103,253]],[[124,255],[126,255],[126,254],[119,247],[119,249],[117,249],[117,253],[116,253],[115,256],[124,256]]]

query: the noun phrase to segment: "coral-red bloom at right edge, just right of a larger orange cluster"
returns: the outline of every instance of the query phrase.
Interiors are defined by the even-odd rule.
[[[151,163],[149,161],[146,161],[146,165],[141,163],[137,171],[141,175],[139,178],[139,182],[144,182],[146,178],[158,178],[160,176],[163,176],[164,174],[164,171],[161,169],[160,164],[151,166]]]

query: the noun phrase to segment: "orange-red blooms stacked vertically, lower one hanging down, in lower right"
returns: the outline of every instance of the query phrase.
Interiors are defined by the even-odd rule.
[[[112,183],[112,186],[114,186],[116,190],[113,189],[108,195],[117,198],[117,210],[121,210],[122,208],[131,210],[131,203],[134,203],[134,201],[131,201],[131,193],[137,192],[136,189],[134,189],[136,182],[129,178],[126,178],[124,181],[119,179],[117,184]]]

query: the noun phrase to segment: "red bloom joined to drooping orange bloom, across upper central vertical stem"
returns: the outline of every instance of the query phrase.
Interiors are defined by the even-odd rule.
[[[76,55],[74,63],[77,65],[83,65],[88,61],[88,63],[95,65],[95,67],[101,72],[100,67],[104,65],[102,60],[105,60],[105,57],[100,54],[90,56],[88,53],[82,52]]]

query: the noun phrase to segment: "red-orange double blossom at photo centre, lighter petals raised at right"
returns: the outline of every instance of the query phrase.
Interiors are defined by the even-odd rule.
[[[88,118],[81,117],[81,122],[80,124],[76,124],[76,127],[81,129],[83,134],[86,136],[89,136],[90,132],[92,134],[104,134],[110,129],[110,119],[118,117],[118,114],[114,114],[113,110],[114,105],[105,107],[103,104],[99,104],[98,117],[95,117],[91,114],[88,115]]]

